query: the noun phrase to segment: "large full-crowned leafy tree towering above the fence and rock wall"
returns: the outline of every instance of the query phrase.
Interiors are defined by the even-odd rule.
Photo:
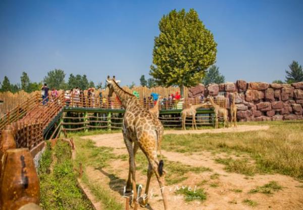
[[[161,85],[194,86],[215,63],[217,43],[195,10],[171,11],[159,23],[149,74]]]

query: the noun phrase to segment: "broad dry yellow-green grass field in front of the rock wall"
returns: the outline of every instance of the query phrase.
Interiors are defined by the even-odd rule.
[[[279,173],[303,179],[302,124],[302,120],[246,122],[245,125],[270,125],[270,129],[241,133],[164,135],[162,148],[176,152],[240,152],[255,160],[257,170],[252,170],[253,173]]]

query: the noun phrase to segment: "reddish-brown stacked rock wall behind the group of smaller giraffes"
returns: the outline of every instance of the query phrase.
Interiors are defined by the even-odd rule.
[[[303,82],[268,84],[237,80],[236,83],[210,84],[199,89],[203,89],[203,92],[195,91],[197,96],[201,94],[205,97],[208,95],[225,96],[227,108],[232,102],[231,93],[237,92],[235,103],[238,108],[239,121],[303,119]],[[192,93],[192,88],[189,89],[189,97],[190,93]]]

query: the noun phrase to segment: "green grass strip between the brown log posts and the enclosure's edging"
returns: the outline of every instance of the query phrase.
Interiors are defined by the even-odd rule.
[[[49,167],[53,167],[53,170]],[[90,201],[77,187],[71,149],[67,142],[59,140],[53,150],[47,142],[38,174],[42,209],[91,209]]]

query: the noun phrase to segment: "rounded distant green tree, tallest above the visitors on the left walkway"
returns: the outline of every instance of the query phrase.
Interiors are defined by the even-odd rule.
[[[65,73],[61,69],[55,69],[47,72],[47,76],[44,77],[44,82],[49,88],[64,89],[65,88]]]

